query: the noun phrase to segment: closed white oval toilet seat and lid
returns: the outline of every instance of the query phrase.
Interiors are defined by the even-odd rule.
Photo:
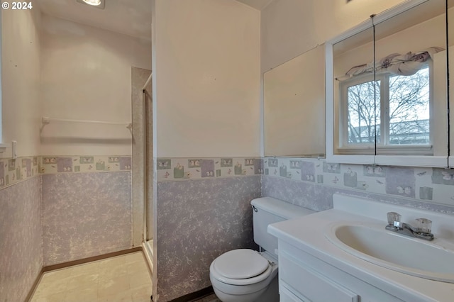
[[[214,259],[211,273],[217,280],[231,285],[256,284],[272,272],[268,260],[249,249],[231,250]]]

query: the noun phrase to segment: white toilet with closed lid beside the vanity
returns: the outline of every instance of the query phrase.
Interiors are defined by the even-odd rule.
[[[211,284],[223,302],[279,301],[277,238],[268,234],[268,225],[314,213],[271,197],[256,198],[250,203],[254,241],[265,251],[231,250],[211,262]]]

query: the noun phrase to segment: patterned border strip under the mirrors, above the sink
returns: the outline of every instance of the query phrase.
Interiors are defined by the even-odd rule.
[[[426,167],[338,164],[324,159],[265,157],[265,175],[454,206],[454,171]]]

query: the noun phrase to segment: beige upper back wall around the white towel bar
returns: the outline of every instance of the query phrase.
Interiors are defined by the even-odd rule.
[[[131,67],[150,69],[151,42],[43,15],[41,62],[43,116],[130,123]],[[50,123],[41,153],[131,155],[125,125]]]

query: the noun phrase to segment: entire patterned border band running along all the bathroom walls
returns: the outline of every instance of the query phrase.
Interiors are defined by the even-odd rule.
[[[265,174],[454,206],[454,171],[338,164],[294,157],[157,158],[157,181]],[[131,155],[35,156],[0,160],[0,189],[39,174],[131,171]]]

